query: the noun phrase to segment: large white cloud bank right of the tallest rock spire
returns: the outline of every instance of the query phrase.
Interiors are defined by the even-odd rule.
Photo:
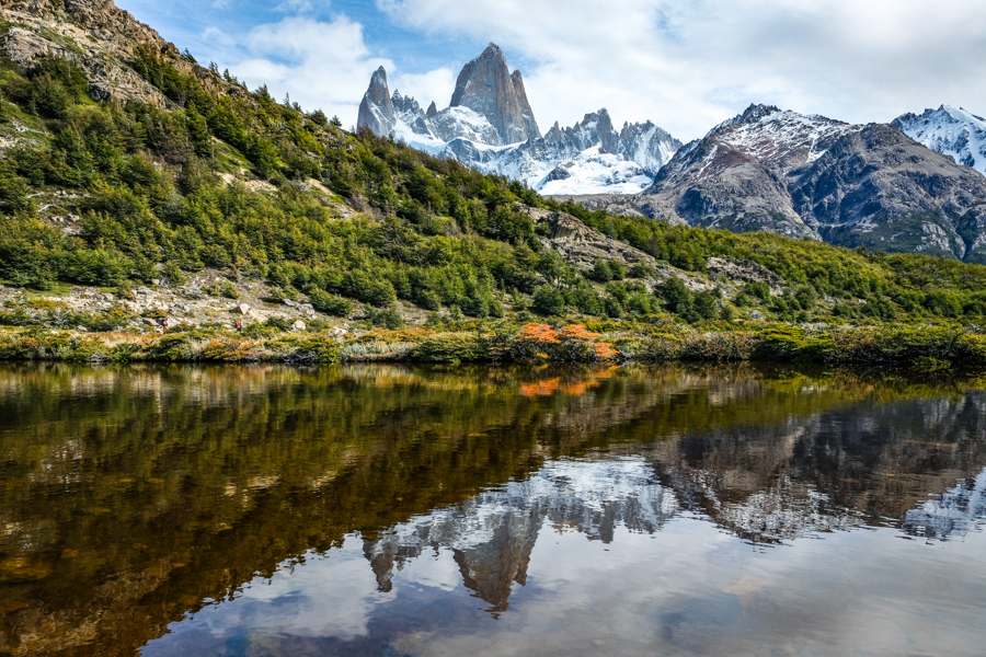
[[[750,102],[853,122],[986,112],[986,12],[938,0],[377,0],[405,27],[500,44],[547,127],[606,106],[697,137]],[[419,99],[420,101],[422,99]],[[440,104],[440,103],[439,103]]]

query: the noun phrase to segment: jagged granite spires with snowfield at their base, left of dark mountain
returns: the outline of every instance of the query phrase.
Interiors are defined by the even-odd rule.
[[[440,112],[434,102],[424,111],[400,91],[391,94],[381,67],[357,125],[484,173],[523,180],[542,194],[638,194],[681,147],[651,122],[617,131],[605,108],[571,128],[555,123],[542,136],[520,71],[509,72],[494,44],[462,68]]]

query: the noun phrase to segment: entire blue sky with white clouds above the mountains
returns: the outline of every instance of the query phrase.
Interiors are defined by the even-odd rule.
[[[609,110],[684,141],[750,103],[986,115],[986,0],[116,0],[199,62],[344,126],[374,70],[423,107],[496,43],[541,131]]]

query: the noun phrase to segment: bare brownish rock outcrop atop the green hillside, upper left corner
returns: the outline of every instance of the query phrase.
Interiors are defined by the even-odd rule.
[[[22,69],[46,55],[73,59],[85,71],[98,101],[135,99],[164,106],[164,96],[127,62],[138,46],[170,56],[176,68],[207,87],[208,72],[186,61],[177,48],[112,0],[0,0],[0,16],[13,24],[0,34],[0,48]]]

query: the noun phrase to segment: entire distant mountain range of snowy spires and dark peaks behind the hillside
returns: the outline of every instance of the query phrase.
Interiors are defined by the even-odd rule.
[[[440,112],[378,70],[359,127],[612,214],[986,263],[986,120],[964,110],[850,125],[750,105],[681,145],[651,122],[617,131],[604,108],[541,136],[491,44]]]

